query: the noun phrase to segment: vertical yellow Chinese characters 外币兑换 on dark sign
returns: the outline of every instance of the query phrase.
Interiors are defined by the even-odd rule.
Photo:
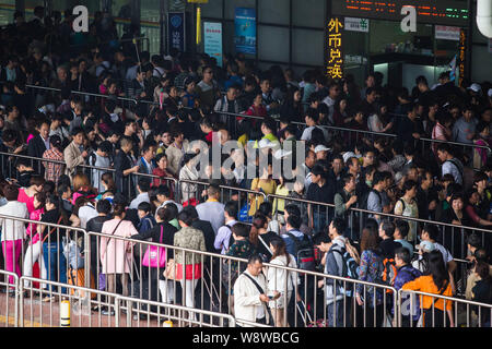
[[[328,22],[328,57],[326,72],[331,79],[343,77],[342,28],[343,24],[339,19],[331,19]]]

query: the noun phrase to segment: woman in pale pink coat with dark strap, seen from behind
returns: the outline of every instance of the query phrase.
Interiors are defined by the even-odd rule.
[[[130,220],[122,220],[125,218],[125,204],[120,203],[115,204],[115,218],[104,222],[102,233],[124,238],[130,238],[139,233]],[[115,292],[116,276],[119,275],[122,294],[128,294],[128,275],[131,272],[132,245],[133,243],[130,241],[106,237],[101,238],[99,257],[103,266],[102,273],[106,275],[108,292]]]

